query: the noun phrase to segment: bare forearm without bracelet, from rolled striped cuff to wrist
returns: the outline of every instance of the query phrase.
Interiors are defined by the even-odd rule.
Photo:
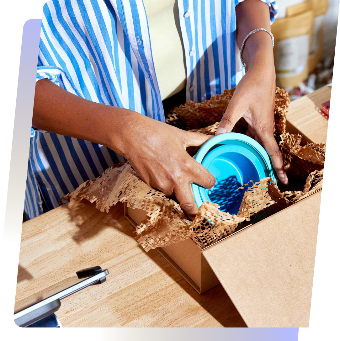
[[[80,98],[48,79],[36,82],[32,127],[80,138],[123,153],[119,141],[135,112]]]

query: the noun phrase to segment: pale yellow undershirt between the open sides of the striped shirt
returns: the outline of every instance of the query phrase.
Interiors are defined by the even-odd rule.
[[[144,0],[162,100],[186,86],[177,0]]]

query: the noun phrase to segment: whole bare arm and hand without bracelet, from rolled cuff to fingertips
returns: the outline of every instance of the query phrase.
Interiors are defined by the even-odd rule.
[[[197,213],[191,183],[206,188],[215,184],[215,178],[186,151],[188,146],[201,146],[208,135],[80,98],[48,79],[35,84],[32,127],[111,148],[129,160],[150,187],[174,194],[190,218]]]

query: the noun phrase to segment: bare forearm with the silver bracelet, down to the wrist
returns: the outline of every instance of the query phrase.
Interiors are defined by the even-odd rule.
[[[256,28],[270,31],[268,5],[260,0],[245,0],[236,6],[236,39],[239,48],[247,34]],[[248,70],[253,66],[266,68],[268,75],[275,75],[274,55],[271,37],[268,32],[258,31],[252,34],[243,48],[242,58]]]

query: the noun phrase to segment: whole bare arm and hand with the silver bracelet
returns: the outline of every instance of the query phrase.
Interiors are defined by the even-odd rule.
[[[247,34],[256,28],[270,31],[270,15],[266,2],[246,0],[235,7],[237,45],[241,49]],[[242,58],[247,73],[239,81],[216,135],[229,133],[243,117],[248,123],[246,134],[260,143],[269,154],[279,179],[288,184],[282,154],[275,140],[275,66],[271,37],[257,31],[246,40]]]

